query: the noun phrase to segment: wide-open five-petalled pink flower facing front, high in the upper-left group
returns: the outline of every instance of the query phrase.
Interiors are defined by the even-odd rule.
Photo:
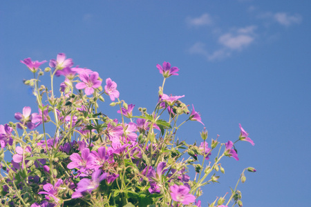
[[[77,83],[75,88],[84,89],[86,95],[93,94],[94,89],[102,85],[102,81],[98,80],[100,77],[98,72],[93,72],[90,76],[86,72],[83,72],[79,77],[83,82]]]

